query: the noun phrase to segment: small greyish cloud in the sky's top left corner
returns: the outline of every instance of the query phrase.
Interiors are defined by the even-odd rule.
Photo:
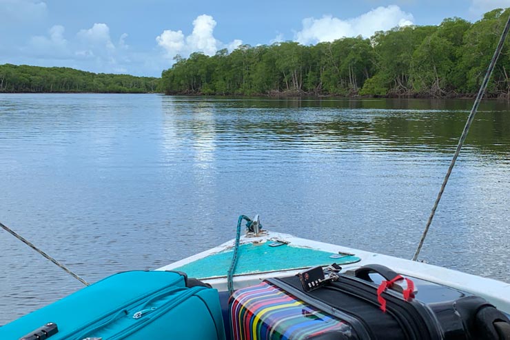
[[[2,21],[30,22],[46,14],[47,6],[37,0],[0,0]]]

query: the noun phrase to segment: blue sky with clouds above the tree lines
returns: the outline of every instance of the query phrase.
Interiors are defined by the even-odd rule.
[[[369,37],[506,7],[510,0],[0,0],[0,63],[159,77],[176,54]]]

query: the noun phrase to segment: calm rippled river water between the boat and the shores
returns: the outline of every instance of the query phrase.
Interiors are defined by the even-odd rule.
[[[265,228],[410,258],[471,101],[0,94],[0,221],[88,281]],[[421,259],[510,282],[510,106],[482,103]],[[0,324],[81,283],[0,230]],[[225,271],[227,268],[225,268]]]

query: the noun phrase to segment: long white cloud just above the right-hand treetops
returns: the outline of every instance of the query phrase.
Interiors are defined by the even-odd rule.
[[[412,25],[414,17],[396,5],[378,7],[347,20],[325,15],[320,19],[303,19],[303,29],[296,32],[295,41],[303,44],[334,41],[342,37],[370,37],[378,30]]]

